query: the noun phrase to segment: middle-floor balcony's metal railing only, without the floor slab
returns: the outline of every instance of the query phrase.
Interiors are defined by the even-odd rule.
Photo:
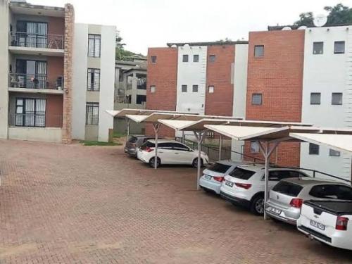
[[[58,76],[56,80],[48,80],[47,75],[30,75],[22,73],[11,73],[8,78],[8,86],[11,88],[28,89],[63,89],[63,77]]]

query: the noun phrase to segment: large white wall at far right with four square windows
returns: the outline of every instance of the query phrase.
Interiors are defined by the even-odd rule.
[[[346,27],[312,27],[306,30],[302,122],[323,127],[346,127],[346,77],[348,77],[348,41]],[[345,42],[345,53],[334,54],[334,42]],[[313,42],[324,42],[323,54],[313,54]],[[321,93],[321,104],[310,105],[310,93]],[[332,105],[332,93],[341,92],[343,105]],[[351,178],[351,155],[329,156],[329,148],[320,146],[319,155],[309,155],[309,144],[301,144],[301,167],[314,168],[339,177]]]

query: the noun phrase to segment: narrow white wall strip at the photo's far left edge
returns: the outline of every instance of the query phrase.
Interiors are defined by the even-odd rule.
[[[8,136],[8,4],[0,0],[0,138]]]

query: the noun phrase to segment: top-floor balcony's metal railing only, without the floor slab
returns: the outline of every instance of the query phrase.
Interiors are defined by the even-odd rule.
[[[10,46],[39,49],[63,49],[63,35],[10,32]]]

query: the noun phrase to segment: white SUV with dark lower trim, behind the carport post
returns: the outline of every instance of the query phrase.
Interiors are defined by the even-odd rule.
[[[269,168],[269,190],[280,180],[291,177],[308,177],[300,170]],[[265,166],[241,165],[235,168],[220,187],[220,196],[234,204],[246,206],[256,215],[264,213]]]

